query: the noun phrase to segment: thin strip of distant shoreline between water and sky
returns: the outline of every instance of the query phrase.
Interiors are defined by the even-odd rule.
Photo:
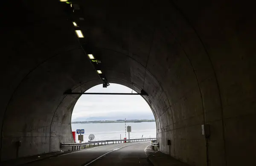
[[[148,120],[126,120],[126,122],[130,123],[140,123],[140,122],[155,122],[154,119]],[[102,123],[125,123],[124,120],[116,120],[116,121],[73,121],[71,124],[102,124]]]

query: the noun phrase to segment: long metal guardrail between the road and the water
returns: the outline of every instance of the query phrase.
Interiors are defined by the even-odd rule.
[[[105,140],[105,141],[92,141],[85,143],[61,143],[61,147],[72,147],[72,150],[80,150],[81,146],[94,145],[101,143],[101,145],[114,144],[114,143],[128,143],[128,142],[139,142],[139,141],[154,141],[157,138],[140,138],[140,139],[128,139],[128,140]],[[113,142],[113,143],[112,143]]]

